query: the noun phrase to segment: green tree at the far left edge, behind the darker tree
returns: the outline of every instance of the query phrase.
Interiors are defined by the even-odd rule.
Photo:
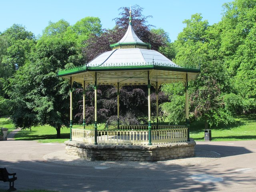
[[[0,115],[8,114],[4,84],[28,61],[35,44],[34,34],[22,25],[14,24],[0,34]]]

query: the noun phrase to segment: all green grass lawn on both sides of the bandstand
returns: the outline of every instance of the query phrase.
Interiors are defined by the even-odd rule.
[[[0,127],[13,130],[14,126],[8,118],[0,118]],[[75,126],[74,126],[75,127]],[[235,124],[220,125],[212,130],[213,141],[256,140],[256,114],[242,115],[236,118]],[[15,140],[38,140],[38,142],[63,143],[70,138],[70,129],[62,128],[61,139],[56,139],[56,130],[51,126],[37,126],[30,130],[20,130]],[[190,137],[196,141],[204,140],[204,123],[193,122],[190,126]]]

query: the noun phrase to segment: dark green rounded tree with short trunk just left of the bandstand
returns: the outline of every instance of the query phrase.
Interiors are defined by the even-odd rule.
[[[47,60],[38,60],[20,68],[9,79],[11,118],[16,127],[49,124],[56,128],[68,126],[68,83],[56,76],[57,67]]]

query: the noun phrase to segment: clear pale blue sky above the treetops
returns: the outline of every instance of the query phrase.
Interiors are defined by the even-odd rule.
[[[192,14],[202,14],[203,20],[212,25],[221,20],[222,5],[232,0],[0,0],[0,32],[13,24],[21,24],[38,36],[49,21],[64,19],[75,24],[87,16],[98,17],[102,28],[113,28],[114,18],[119,17],[120,7],[139,5],[144,8],[148,24],[162,28],[171,41],[182,32],[185,19]]]

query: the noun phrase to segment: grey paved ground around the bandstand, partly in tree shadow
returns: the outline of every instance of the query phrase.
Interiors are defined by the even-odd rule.
[[[20,190],[65,192],[256,192],[256,140],[197,142],[196,157],[165,162],[88,162],[64,144],[1,141],[0,167]],[[8,183],[0,182],[0,189]]]

